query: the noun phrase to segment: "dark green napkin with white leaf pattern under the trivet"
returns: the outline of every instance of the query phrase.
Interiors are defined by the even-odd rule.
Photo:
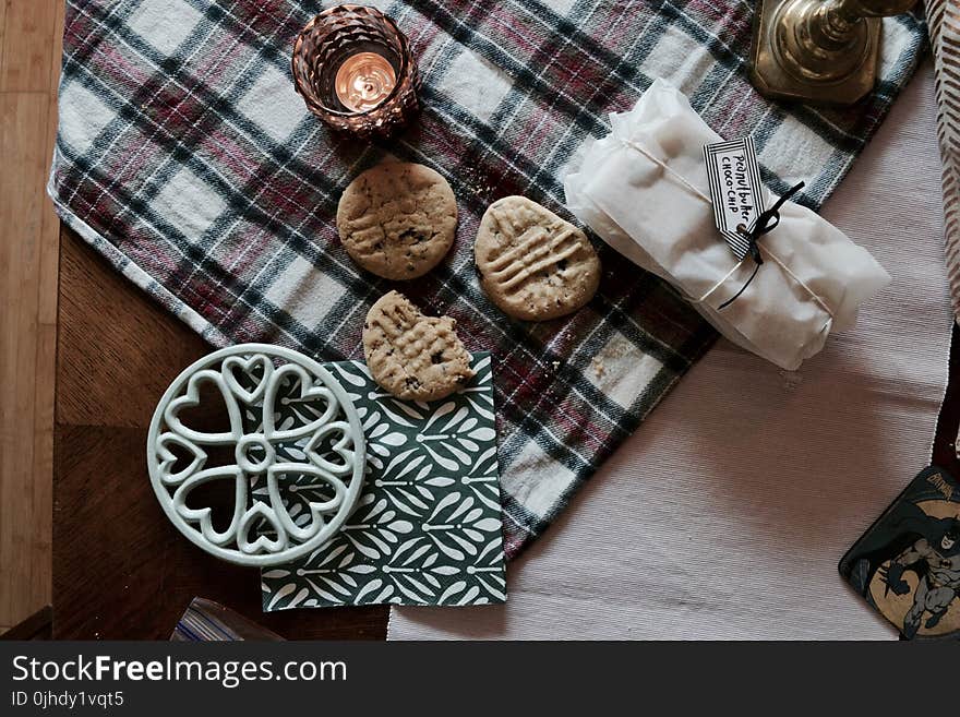
[[[326,365],[363,421],[363,493],[329,542],[262,572],[264,612],[506,600],[490,354],[472,367],[459,393],[425,404],[384,393],[359,361]]]

